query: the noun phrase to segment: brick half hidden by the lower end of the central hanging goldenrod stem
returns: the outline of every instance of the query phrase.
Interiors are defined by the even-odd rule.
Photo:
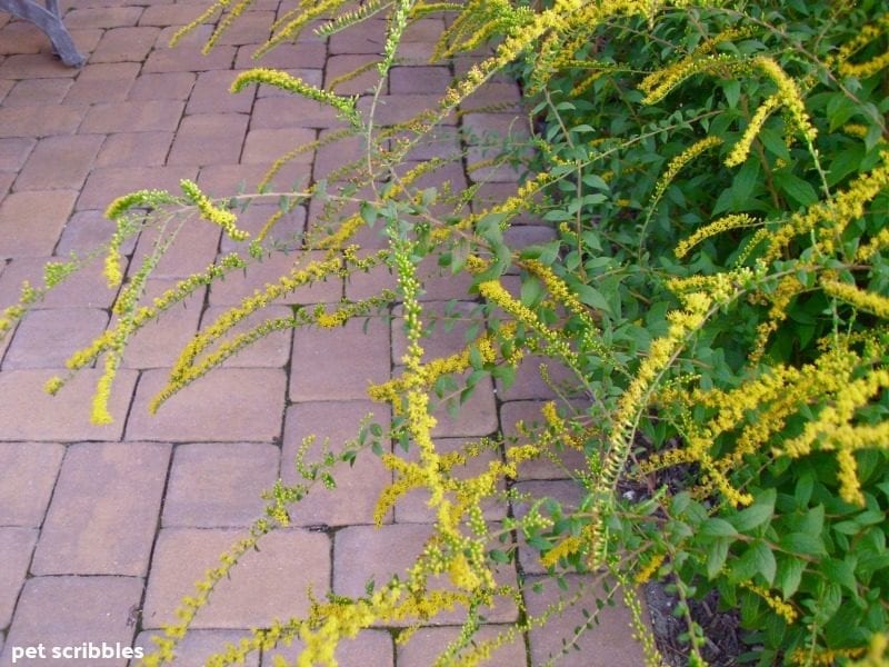
[[[431,535],[432,526],[427,524],[392,524],[380,528],[350,526],[338,530],[333,539],[333,593],[360,597],[371,579],[378,588],[393,575],[403,580]],[[516,585],[516,571],[511,566],[501,566],[496,577],[502,585]],[[447,577],[431,580],[430,587],[449,588]],[[500,597],[492,607],[481,608],[479,613],[493,623],[512,621],[518,617],[515,603]],[[455,624],[465,618],[466,609],[457,608],[442,611],[431,621]]]

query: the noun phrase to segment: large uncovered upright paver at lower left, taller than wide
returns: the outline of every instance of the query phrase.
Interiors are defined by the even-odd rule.
[[[169,445],[71,445],[31,571],[144,577],[169,461]]]

